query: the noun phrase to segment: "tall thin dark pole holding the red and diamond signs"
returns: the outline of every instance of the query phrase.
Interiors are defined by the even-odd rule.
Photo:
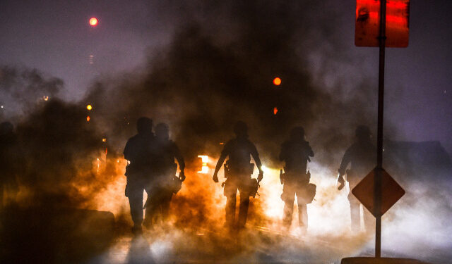
[[[383,163],[383,102],[384,102],[384,59],[386,45],[386,0],[380,2],[380,59],[379,59],[379,106],[376,138],[376,173],[374,178],[375,258],[381,257],[381,175]]]

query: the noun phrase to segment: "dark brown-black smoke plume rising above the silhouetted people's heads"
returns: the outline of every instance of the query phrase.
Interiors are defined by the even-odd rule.
[[[350,135],[357,124],[374,119],[369,102],[375,94],[369,87],[357,84],[361,92],[342,100],[336,95],[341,87],[328,91],[311,77],[311,53],[325,51],[321,58],[331,61],[345,56],[324,48],[340,46],[338,32],[327,27],[333,18],[314,23],[319,13],[328,14],[326,6],[268,1],[181,5],[184,12],[196,11],[189,18],[182,15],[187,20],[169,46],[154,51],[157,55],[141,73],[96,83],[85,99],[106,126],[113,124],[105,127],[111,137],[124,141],[133,131],[124,130],[124,123],[149,115],[169,122],[173,138],[194,157],[218,153],[212,146],[225,142],[234,122],[244,120],[271,164],[294,125],[306,128],[316,149],[334,152],[345,148],[343,133]],[[282,78],[280,87],[273,85],[274,77]]]

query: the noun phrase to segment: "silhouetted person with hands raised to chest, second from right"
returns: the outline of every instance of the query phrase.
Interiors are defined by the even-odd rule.
[[[309,142],[304,139],[303,127],[294,127],[290,132],[290,139],[281,145],[280,153],[280,161],[285,161],[285,173],[281,179],[281,183],[284,184],[281,199],[285,203],[283,222],[287,228],[292,224],[295,195],[297,195],[299,226],[307,230],[307,203],[311,203],[312,199],[309,192],[311,175],[306,169],[310,161],[309,157],[313,156],[314,152]]]

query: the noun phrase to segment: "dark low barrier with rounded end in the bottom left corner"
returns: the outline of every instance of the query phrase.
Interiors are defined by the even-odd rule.
[[[81,263],[114,241],[110,212],[33,207],[0,215],[0,263]]]

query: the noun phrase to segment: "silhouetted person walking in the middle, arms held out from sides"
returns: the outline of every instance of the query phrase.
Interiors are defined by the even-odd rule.
[[[218,171],[222,164],[225,162],[225,158],[229,156],[229,160],[225,165],[225,182],[224,194],[226,196],[226,224],[228,227],[243,228],[246,224],[246,217],[248,215],[249,196],[252,194],[258,183],[262,180],[263,170],[262,163],[259,159],[259,155],[253,143],[248,139],[248,127],[242,121],[237,122],[234,125],[234,133],[236,137],[231,139],[225,144],[224,149],[221,152],[220,159],[215,167],[213,173],[213,181],[218,182]],[[256,180],[251,179],[253,173],[254,164],[250,163],[253,156],[259,170],[259,175]],[[239,219],[235,221],[235,206],[237,199],[237,189],[240,193],[240,206],[239,206]],[[254,190],[254,191],[253,191]]]

